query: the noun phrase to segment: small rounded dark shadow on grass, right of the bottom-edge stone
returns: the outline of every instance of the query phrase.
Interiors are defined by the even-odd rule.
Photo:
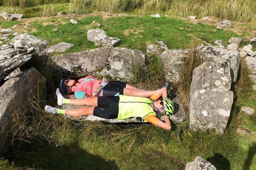
[[[216,169],[230,170],[229,160],[220,153],[215,153],[212,157],[206,159],[213,164]]]

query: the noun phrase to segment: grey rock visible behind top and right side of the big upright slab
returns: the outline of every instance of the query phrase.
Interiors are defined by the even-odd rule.
[[[211,61],[216,58],[228,59],[230,61],[230,74],[232,82],[236,81],[240,63],[240,56],[238,51],[228,51],[223,48],[206,46],[202,49],[202,52],[203,61]]]

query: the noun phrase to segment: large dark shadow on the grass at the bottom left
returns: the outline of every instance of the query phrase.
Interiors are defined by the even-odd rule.
[[[13,148],[15,150],[15,148]],[[11,149],[12,150],[12,149]],[[50,146],[49,144],[35,147],[23,146],[15,156],[8,153],[4,158],[19,167],[35,167],[39,169],[119,169],[115,161],[107,161],[103,157],[88,153],[77,144],[69,146]]]

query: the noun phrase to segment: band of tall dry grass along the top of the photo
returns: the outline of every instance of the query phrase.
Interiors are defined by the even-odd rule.
[[[180,17],[211,16],[237,22],[256,21],[256,0],[2,0],[0,4],[5,7],[19,6],[22,11],[24,8],[38,5],[67,2],[69,5],[65,6],[65,11],[75,14],[89,14],[95,11],[139,15],[160,13]]]

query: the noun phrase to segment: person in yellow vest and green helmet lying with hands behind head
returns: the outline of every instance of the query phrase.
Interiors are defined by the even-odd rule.
[[[58,93],[57,93],[58,92]],[[63,110],[46,105],[45,110],[52,114],[66,114],[70,116],[94,115],[105,119],[140,118],[142,122],[150,122],[158,127],[170,130],[169,115],[174,113],[173,102],[167,98],[167,88],[161,88],[150,98],[133,96],[102,96],[84,99],[65,99],[57,89],[58,104],[73,104],[81,109]],[[162,98],[160,98],[162,96]],[[164,116],[165,122],[157,117]]]

